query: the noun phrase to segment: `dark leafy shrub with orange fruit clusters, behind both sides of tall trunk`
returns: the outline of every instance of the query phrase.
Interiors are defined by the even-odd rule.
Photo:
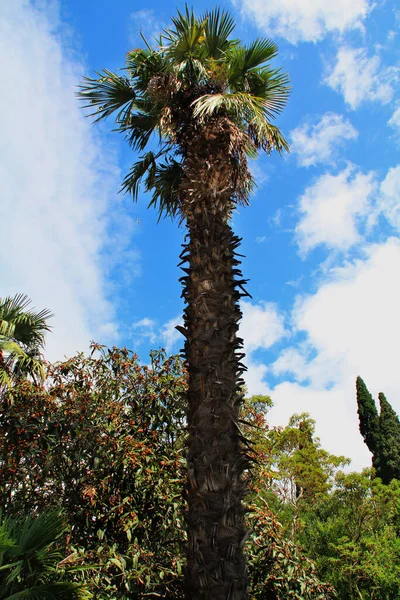
[[[3,504],[9,514],[63,506],[70,531],[60,564],[83,569],[74,578],[98,600],[183,599],[185,370],[162,353],[140,366],[125,349],[92,350],[51,367],[45,387],[24,381],[8,393]],[[253,397],[243,415],[259,453],[248,515],[252,597],[328,599],[329,586],[265,502],[269,404]]]

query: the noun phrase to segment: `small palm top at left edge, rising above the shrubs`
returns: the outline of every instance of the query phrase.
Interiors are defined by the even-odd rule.
[[[0,388],[10,387],[15,377],[44,378],[41,350],[52,314],[29,309],[30,304],[24,294],[0,298]]]

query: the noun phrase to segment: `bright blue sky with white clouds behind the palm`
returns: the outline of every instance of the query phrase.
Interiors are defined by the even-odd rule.
[[[55,313],[47,355],[91,339],[178,351],[184,229],[118,193],[135,156],[74,97],[83,75],[124,66],[183,2],[13,0],[0,6],[0,295]],[[196,2],[201,13],[214,5]],[[243,238],[241,333],[249,393],[271,422],[297,412],[323,445],[369,464],[357,427],[358,374],[400,411],[400,10],[392,0],[244,0],[236,35],[279,46],[293,91],[277,120],[285,157],[252,165]],[[6,83],[5,83],[6,82]]]

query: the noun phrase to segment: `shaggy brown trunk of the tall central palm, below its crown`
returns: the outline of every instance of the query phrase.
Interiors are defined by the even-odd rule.
[[[188,263],[181,280],[189,371],[187,598],[245,600],[242,500],[248,461],[238,428],[245,367],[237,337],[244,295],[237,288],[245,281],[228,211],[211,204],[185,211],[189,242],[181,254]]]

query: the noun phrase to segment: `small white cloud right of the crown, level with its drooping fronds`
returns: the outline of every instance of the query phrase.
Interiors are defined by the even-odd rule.
[[[348,119],[326,113],[315,125],[304,123],[291,134],[291,151],[302,167],[334,163],[337,150],[345,140],[354,140],[358,132]]]

